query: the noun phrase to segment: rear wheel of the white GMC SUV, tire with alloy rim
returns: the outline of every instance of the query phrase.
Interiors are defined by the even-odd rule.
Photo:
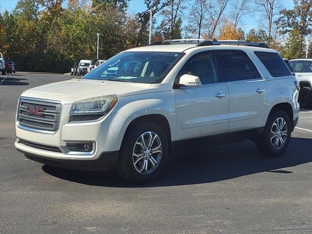
[[[277,128],[276,125],[277,119],[279,120],[280,125],[282,125],[281,124],[282,120],[284,120],[285,122],[285,125],[283,125],[281,131],[279,131]],[[273,131],[274,134],[271,131]],[[285,134],[287,135],[285,136]],[[275,112],[270,114],[267,120],[264,132],[256,143],[257,149],[264,156],[268,157],[281,156],[288,148],[291,139],[291,134],[292,134],[292,125],[289,116],[282,110],[276,110]],[[273,139],[271,139],[271,137]],[[278,137],[280,138],[277,139]],[[284,141],[283,144],[282,140]],[[276,142],[277,145],[274,145],[274,143]]]

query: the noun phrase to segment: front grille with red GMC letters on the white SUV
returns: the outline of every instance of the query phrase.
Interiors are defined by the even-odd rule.
[[[21,126],[55,132],[59,129],[62,104],[21,98],[18,122]]]

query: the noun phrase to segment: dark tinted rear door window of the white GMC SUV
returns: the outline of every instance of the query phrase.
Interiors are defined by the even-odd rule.
[[[250,59],[241,51],[218,51],[217,59],[222,81],[256,78]]]

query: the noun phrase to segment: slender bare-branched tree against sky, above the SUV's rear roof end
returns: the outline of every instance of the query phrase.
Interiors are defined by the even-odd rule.
[[[261,20],[261,23],[265,22],[267,25],[268,31],[268,45],[271,44],[272,39],[272,26],[275,16],[277,15],[277,9],[280,7],[278,0],[255,0],[255,4],[258,10],[263,12],[264,21]]]

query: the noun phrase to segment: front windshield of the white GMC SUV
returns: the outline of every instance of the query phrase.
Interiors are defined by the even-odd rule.
[[[108,59],[83,79],[160,83],[184,53],[123,52]]]

